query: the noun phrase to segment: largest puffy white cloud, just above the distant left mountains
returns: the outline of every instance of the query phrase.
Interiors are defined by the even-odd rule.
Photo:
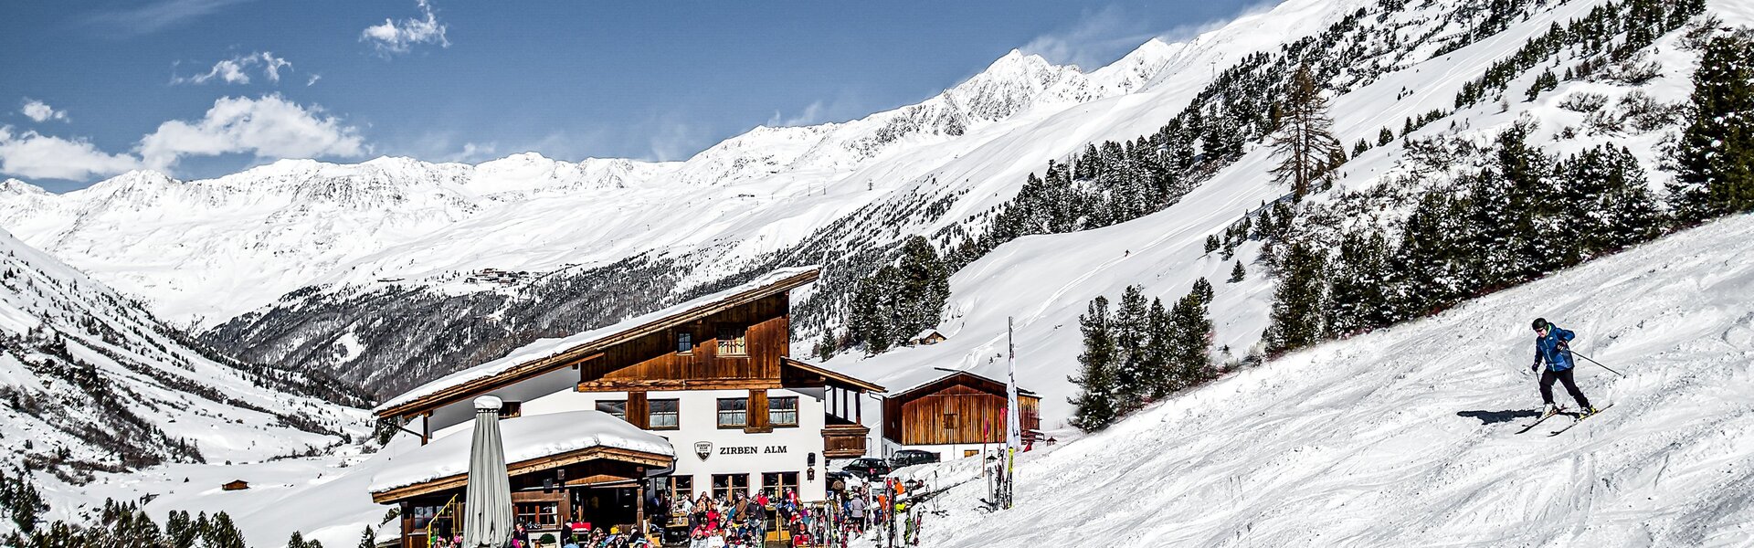
[[[146,167],[168,170],[182,156],[251,153],[272,158],[361,156],[360,130],[281,95],[221,97],[198,121],[172,119],[140,137]]]

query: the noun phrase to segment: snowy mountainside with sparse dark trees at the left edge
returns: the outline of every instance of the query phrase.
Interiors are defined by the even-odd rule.
[[[74,485],[321,451],[370,432],[351,388],[226,358],[5,232],[0,400],[0,467]]]

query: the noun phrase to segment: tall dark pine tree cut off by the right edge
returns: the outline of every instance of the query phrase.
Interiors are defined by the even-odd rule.
[[[1719,33],[1693,72],[1693,119],[1670,184],[1677,221],[1754,209],[1754,35]]]

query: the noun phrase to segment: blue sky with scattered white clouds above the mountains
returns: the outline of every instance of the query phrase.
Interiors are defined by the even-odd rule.
[[[1012,47],[1096,67],[1259,2],[9,2],[0,176],[275,158],[684,160],[924,100]]]

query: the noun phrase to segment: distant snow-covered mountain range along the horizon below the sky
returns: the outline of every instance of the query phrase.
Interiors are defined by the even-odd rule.
[[[747,239],[751,230],[795,214],[775,213],[775,206],[789,206],[777,200],[845,186],[835,191],[837,209],[856,207],[879,193],[835,179],[873,158],[930,149],[1030,109],[1126,93],[1154,76],[1172,51],[1151,42],[1091,76],[1012,51],[921,104],[845,123],[758,126],[679,163],[572,163],[535,153],[481,165],[282,160],[205,181],[130,172],[65,195],[7,181],[0,218],[26,242],[142,295],[161,316],[212,325],[307,285],[484,267],[549,270]],[[930,165],[909,170],[921,169]],[[545,230],[531,234],[533,223]],[[765,230],[814,228],[793,225]],[[475,249],[433,248],[456,241]]]

